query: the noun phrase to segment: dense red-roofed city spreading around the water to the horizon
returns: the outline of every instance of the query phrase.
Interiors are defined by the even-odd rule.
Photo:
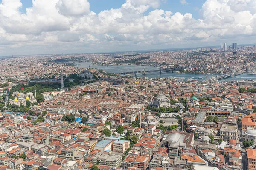
[[[253,170],[256,80],[239,75],[256,73],[255,55],[256,47],[234,43],[2,57],[0,169]],[[145,69],[96,65],[212,77],[149,78]]]

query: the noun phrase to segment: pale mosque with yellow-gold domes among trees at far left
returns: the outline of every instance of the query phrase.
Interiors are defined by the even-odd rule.
[[[20,104],[22,104],[23,106],[26,106],[26,101],[29,101],[31,103],[35,103],[36,102],[36,91],[35,91],[35,97],[34,97],[34,94],[29,92],[29,93],[22,93],[22,92],[14,92],[12,94],[12,96],[15,98],[14,100],[10,99],[9,102],[10,104],[15,104],[15,105],[18,105],[20,106]]]

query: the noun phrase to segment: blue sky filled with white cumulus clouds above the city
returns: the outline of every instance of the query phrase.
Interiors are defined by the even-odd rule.
[[[256,0],[0,0],[0,56],[256,43]]]

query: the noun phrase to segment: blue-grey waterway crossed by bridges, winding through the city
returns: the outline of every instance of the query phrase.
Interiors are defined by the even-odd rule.
[[[154,66],[142,66],[142,65],[108,65],[108,66],[103,66],[103,65],[92,65],[89,64],[89,62],[82,62],[82,63],[76,63],[78,64],[77,66],[79,68],[97,68],[97,69],[102,69],[105,70],[105,72],[110,72],[110,73],[122,73],[122,72],[129,72],[129,71],[143,71],[145,70],[157,70],[156,67]],[[131,76],[135,76],[134,74]],[[137,74],[137,77],[143,77],[143,74]],[[160,72],[153,72],[153,73],[146,73],[146,76],[148,78],[152,77],[184,77],[185,79],[198,79],[199,77],[202,79],[198,80],[205,80],[209,79],[212,77],[212,74],[207,75],[207,74],[182,74],[182,73],[176,73],[176,72],[163,72],[160,74]],[[206,77],[207,76],[207,77]],[[214,77],[217,75],[215,74]],[[236,78],[236,77],[229,77],[227,79],[221,79],[220,81],[230,81],[230,80],[246,80],[246,79],[254,79],[256,80],[256,74],[241,74],[237,77],[241,78]]]

